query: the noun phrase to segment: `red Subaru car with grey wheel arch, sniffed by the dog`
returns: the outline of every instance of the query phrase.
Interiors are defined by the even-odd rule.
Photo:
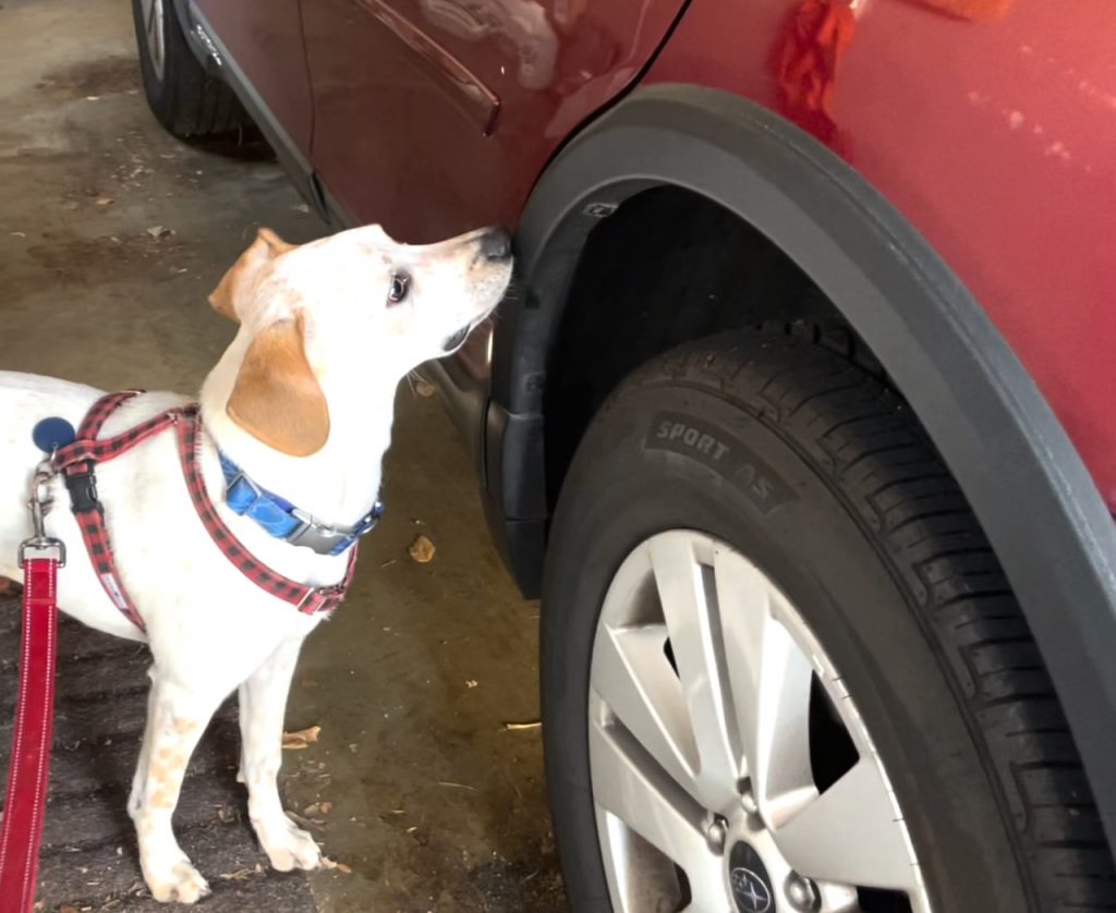
[[[135,0],[180,135],[513,229],[439,368],[576,911],[1116,906],[1110,0]]]

